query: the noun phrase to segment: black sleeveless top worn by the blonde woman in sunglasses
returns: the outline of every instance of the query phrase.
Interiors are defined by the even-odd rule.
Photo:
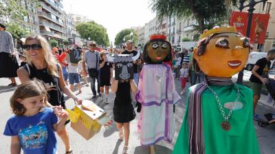
[[[30,69],[28,69],[28,66]],[[30,66],[29,64],[25,64],[23,68],[28,71],[30,79],[39,79],[44,81],[47,88],[47,98],[51,105],[61,105],[65,108],[65,100],[58,83],[58,77],[54,77],[47,73],[46,68],[39,70],[36,69],[34,65]]]

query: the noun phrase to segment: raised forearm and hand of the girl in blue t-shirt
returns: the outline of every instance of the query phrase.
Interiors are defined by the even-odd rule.
[[[68,118],[68,112],[62,109],[62,107],[55,107],[54,114],[61,120],[53,125],[54,131],[61,131],[65,127],[65,122]]]

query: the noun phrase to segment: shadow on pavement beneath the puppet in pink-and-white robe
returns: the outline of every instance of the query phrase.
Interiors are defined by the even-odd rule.
[[[134,154],[145,154],[148,152],[148,147],[146,146],[137,146],[135,148]],[[171,154],[173,151],[171,149],[168,149],[165,146],[155,145],[155,153],[157,154]]]

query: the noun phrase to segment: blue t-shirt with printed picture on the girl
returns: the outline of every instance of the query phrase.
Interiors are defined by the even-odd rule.
[[[5,136],[19,136],[24,154],[56,154],[56,136],[52,125],[57,117],[45,107],[34,116],[12,116],[5,125]]]

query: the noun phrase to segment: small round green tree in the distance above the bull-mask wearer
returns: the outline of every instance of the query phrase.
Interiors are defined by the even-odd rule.
[[[137,43],[138,37],[137,34],[135,33],[134,29],[122,29],[118,34],[115,36],[115,45],[119,46],[120,44],[124,43],[123,38],[126,40],[131,40],[130,34],[133,32],[133,44]]]

